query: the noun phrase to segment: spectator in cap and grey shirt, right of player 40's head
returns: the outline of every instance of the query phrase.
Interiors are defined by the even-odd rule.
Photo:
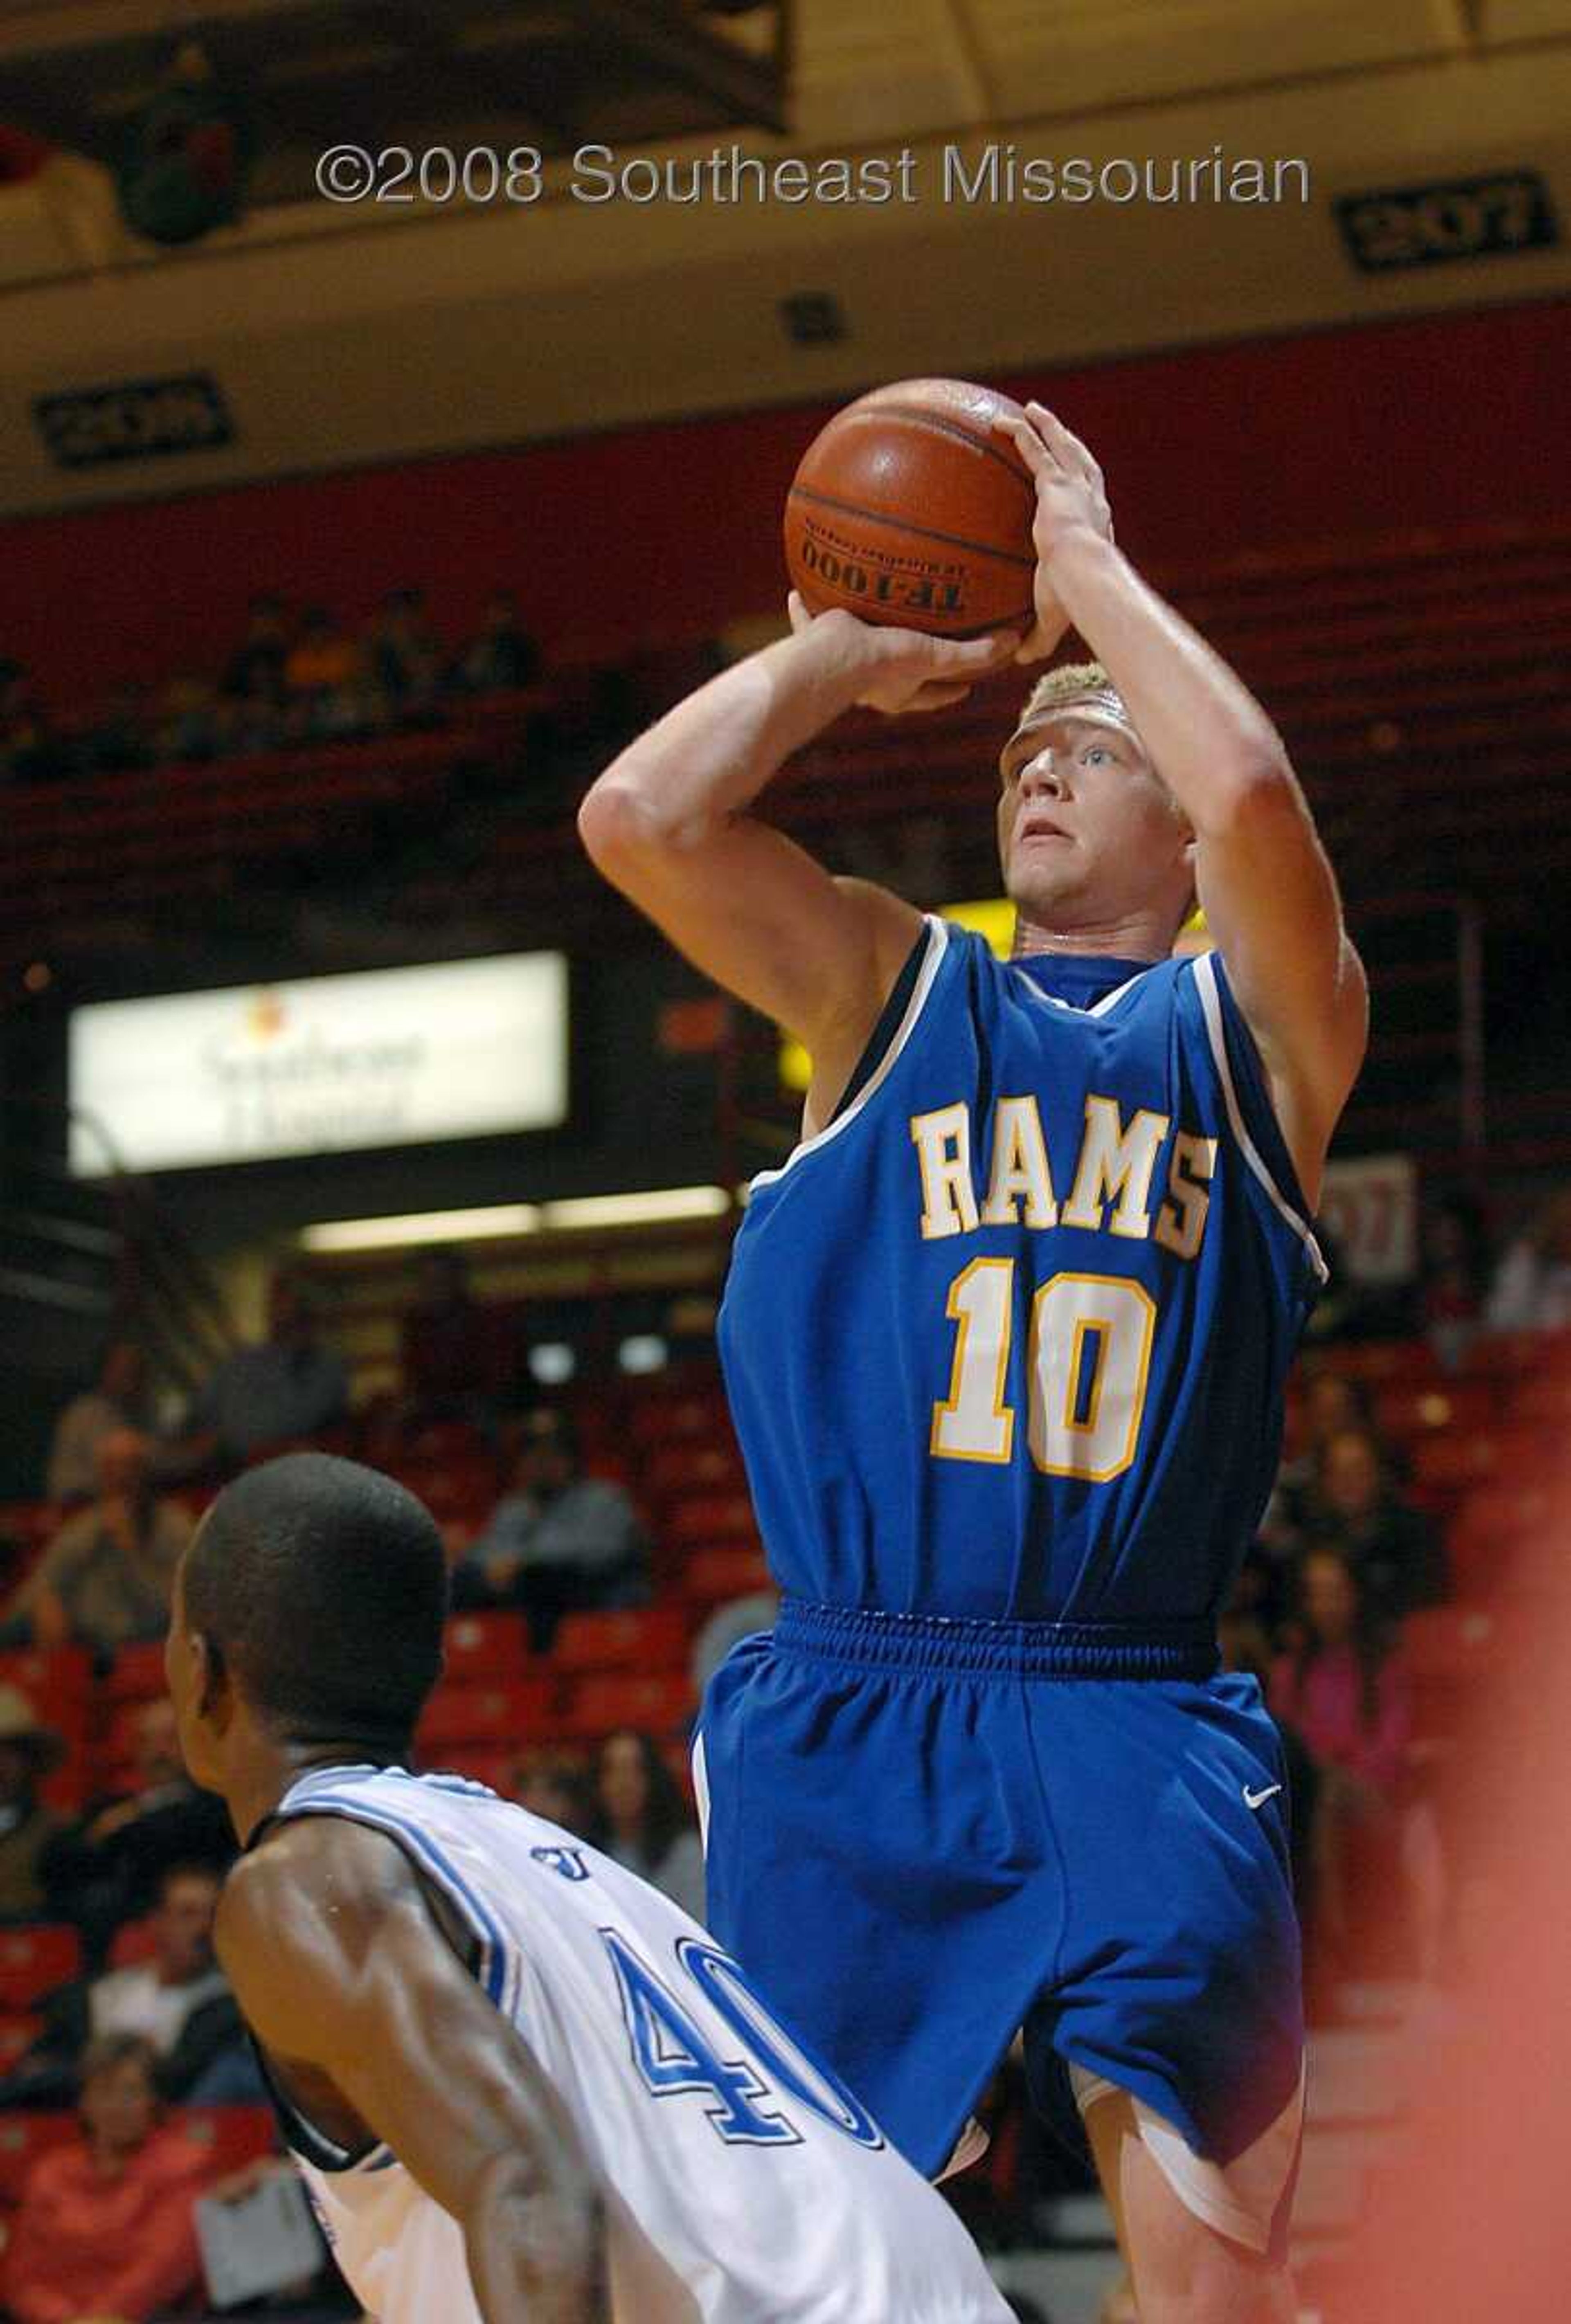
[[[567,1413],[525,1413],[511,1492],[453,1566],[455,1606],[518,1606],[539,1655],[565,1613],[648,1597],[648,1545],[620,1485],[583,1476]]]

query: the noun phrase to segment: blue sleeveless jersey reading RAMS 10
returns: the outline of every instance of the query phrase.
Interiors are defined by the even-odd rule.
[[[999,962],[930,918],[883,1055],[737,1234],[720,1357],[776,1580],[1211,1622],[1322,1281],[1218,953]]]

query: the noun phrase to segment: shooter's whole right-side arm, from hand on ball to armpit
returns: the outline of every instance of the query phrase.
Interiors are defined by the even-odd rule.
[[[1039,590],[1104,662],[1197,839],[1195,883],[1260,1046],[1306,1197],[1364,1057],[1369,995],[1281,734],[1106,539],[1102,472],[1041,404],[1009,425],[1036,476]]]

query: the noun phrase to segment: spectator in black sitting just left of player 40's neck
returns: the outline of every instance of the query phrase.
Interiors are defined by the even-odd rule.
[[[81,1929],[98,1966],[128,1920],[142,1920],[158,1882],[177,1864],[223,1873],[235,1859],[235,1829],[214,1792],[186,1776],[174,1731],[174,1703],[158,1697],[130,1720],[132,1789],[88,1803],[44,1857],[56,1910]]]

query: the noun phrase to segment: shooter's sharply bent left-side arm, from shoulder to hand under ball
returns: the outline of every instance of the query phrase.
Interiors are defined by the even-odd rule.
[[[955,644],[799,607],[792,623],[639,734],[590,788],[579,832],[695,967],[806,1043],[827,1085],[851,1074],[920,920],[883,888],[832,878],[748,806],[853,704],[957,702],[1016,639]]]

